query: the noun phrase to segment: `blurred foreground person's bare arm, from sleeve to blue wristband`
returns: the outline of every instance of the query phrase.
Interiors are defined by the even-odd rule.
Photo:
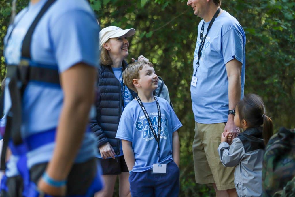
[[[46,169],[55,180],[65,180],[84,139],[94,101],[95,68],[76,64],[61,74],[64,92],[53,157]]]

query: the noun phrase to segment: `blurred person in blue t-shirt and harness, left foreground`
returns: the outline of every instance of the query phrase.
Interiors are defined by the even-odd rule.
[[[87,122],[99,64],[99,25],[89,3],[86,0],[31,0],[9,26],[4,56],[8,69],[23,61],[27,32],[48,2],[52,4],[32,33],[28,61],[30,67],[57,70],[60,84],[29,79],[22,96],[21,122],[21,137],[28,146],[27,163],[19,163],[16,155],[17,167],[27,166],[30,187],[35,184],[46,194],[94,194],[101,188],[101,182],[95,159],[96,141]],[[12,78],[7,77],[6,112],[14,105],[12,97],[9,98],[11,81]],[[19,168],[12,166],[14,169],[7,169],[9,178],[19,174]],[[32,196],[32,193],[26,194]]]

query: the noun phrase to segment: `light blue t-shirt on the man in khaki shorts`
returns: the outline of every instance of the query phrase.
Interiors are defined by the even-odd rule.
[[[194,53],[193,76],[198,61],[200,30]],[[204,25],[204,34],[210,22]],[[232,59],[242,63],[241,98],[245,84],[245,32],[237,19],[228,12],[221,13],[213,22],[201,53],[196,73],[196,87],[191,85],[191,100],[195,121],[203,124],[226,122],[228,118],[228,79],[225,64]]]

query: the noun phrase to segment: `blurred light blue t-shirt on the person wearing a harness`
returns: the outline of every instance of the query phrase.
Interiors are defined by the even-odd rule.
[[[22,41],[46,0],[29,4],[15,18],[15,27],[9,27],[4,39],[7,64],[19,64]],[[99,64],[99,25],[89,3],[84,0],[57,0],[45,12],[32,35],[31,58],[34,63],[58,68],[60,73],[83,62],[89,66]],[[83,82],[81,82],[83,83]],[[9,79],[5,95],[9,95]],[[5,98],[5,112],[9,109]],[[29,82],[22,100],[22,138],[56,128],[63,105],[60,86],[42,82]],[[71,132],[71,131],[68,131]],[[28,167],[49,161],[55,143],[46,144],[27,153]],[[96,141],[91,132],[85,133],[75,162],[84,162],[97,154]]]

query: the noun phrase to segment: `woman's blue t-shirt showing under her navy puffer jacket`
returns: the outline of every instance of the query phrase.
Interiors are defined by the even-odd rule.
[[[121,95],[122,95],[122,98],[124,100],[124,106],[122,105],[122,111],[124,110],[124,107],[126,107],[126,105],[128,103],[130,103],[130,101],[132,101],[133,97],[132,97],[132,94],[130,93],[127,85],[125,85],[125,90],[123,92],[123,77],[122,77],[122,67],[120,68],[113,68],[112,67],[112,70],[114,72],[114,75],[115,77],[119,80],[120,84],[121,84]],[[120,153],[117,157],[120,157],[120,156],[123,156],[123,149],[122,149],[122,143],[120,143]],[[101,158],[101,155],[100,153],[97,154],[97,158]],[[111,159],[112,157],[108,157],[106,159]]]

